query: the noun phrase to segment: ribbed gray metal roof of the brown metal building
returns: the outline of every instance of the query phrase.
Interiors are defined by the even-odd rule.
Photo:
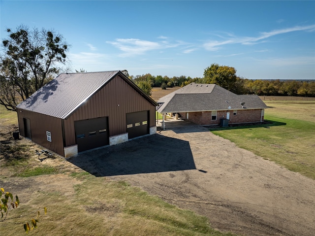
[[[66,119],[117,74],[126,77],[120,70],[60,74],[31,97],[22,101],[17,108]],[[132,81],[127,78],[125,80],[143,97],[152,100]],[[155,101],[151,102],[156,105]]]

